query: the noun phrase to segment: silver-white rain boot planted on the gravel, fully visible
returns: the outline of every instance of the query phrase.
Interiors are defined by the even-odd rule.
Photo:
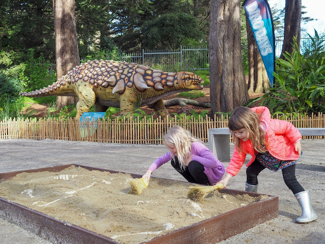
[[[317,219],[317,215],[311,206],[309,191],[298,192],[295,194],[303,214],[296,219],[297,223],[308,223]]]

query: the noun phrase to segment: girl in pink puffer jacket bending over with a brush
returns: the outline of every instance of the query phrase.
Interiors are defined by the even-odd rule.
[[[257,175],[265,168],[272,171],[281,169],[286,186],[294,193],[303,210],[296,222],[316,220],[309,192],[296,179],[296,162],[302,154],[298,129],[288,121],[272,119],[267,107],[234,109],[228,127],[233,135],[235,150],[226,168],[227,174],[219,182],[226,187],[243,166],[246,155],[250,154],[252,158],[246,165],[245,190],[257,192]]]

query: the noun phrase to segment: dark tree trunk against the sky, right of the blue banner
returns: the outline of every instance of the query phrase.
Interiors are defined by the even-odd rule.
[[[301,31],[301,0],[286,0],[284,13],[284,39],[280,58],[284,59],[286,51],[293,53],[293,38],[297,36],[297,44],[300,47]]]

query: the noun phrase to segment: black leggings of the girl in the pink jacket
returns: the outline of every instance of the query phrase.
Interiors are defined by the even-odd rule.
[[[257,185],[257,175],[264,169],[265,167],[257,160],[255,160],[246,169],[247,183],[250,185]],[[296,164],[290,165],[289,167],[282,169],[282,175],[285,185],[294,194],[305,191],[305,189],[299,184],[298,180],[296,179]]]

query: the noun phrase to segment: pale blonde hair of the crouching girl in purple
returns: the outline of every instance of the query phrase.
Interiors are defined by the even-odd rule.
[[[165,146],[175,146],[177,150],[177,158],[182,170],[185,169],[185,160],[191,156],[192,142],[199,139],[180,126],[173,126],[164,136]],[[175,155],[171,153],[172,159],[175,161]]]

